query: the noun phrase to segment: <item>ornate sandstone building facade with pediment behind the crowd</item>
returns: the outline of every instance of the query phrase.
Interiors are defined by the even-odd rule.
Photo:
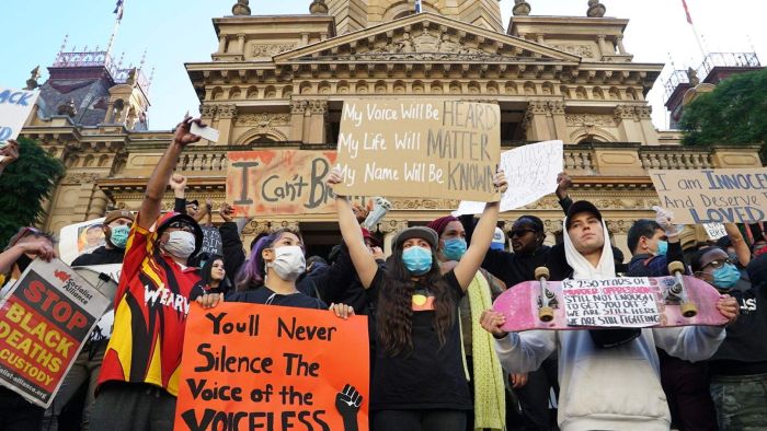
[[[248,1],[238,1],[233,15],[213,20],[218,49],[211,61],[186,65],[203,119],[221,133],[217,144],[203,142],[182,155],[178,170],[190,177],[188,196],[220,205],[227,151],[335,148],[344,100],[368,97],[495,103],[504,149],[561,139],[575,182],[571,194],[604,209],[625,252],[631,222],[652,215],[657,203],[646,170],[762,166],[756,148],[682,148],[678,132],[655,129],[645,96],[663,65],[633,61],[623,44],[628,20],[604,16],[605,7],[595,1],[584,16],[535,16],[530,4],[515,3],[504,31],[495,0],[424,0],[417,14],[412,1],[314,0],[309,14],[281,16],[251,14]],[[47,202],[49,230],[100,217],[107,207],[137,209],[171,139],[170,132],[140,127],[149,102],[139,73],[118,82],[96,77],[99,67],[88,77],[78,69],[60,73],[104,80],[107,91],[98,102],[103,119],[83,124],[49,107],[23,130],[67,166]],[[458,205],[390,200],[393,209],[378,226],[384,236]],[[165,206],[172,207],[170,191]],[[549,241],[561,230],[553,196],[501,219],[511,223],[526,212],[545,220]],[[256,217],[243,234],[248,244],[261,232],[297,228],[310,246],[325,249],[340,240],[334,220]]]

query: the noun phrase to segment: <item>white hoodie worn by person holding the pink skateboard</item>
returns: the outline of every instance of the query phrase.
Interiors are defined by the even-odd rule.
[[[603,222],[605,238],[607,226]],[[566,232],[566,229],[564,229]],[[609,242],[599,264],[592,266],[564,235],[565,261],[553,273],[574,279],[615,277]],[[570,267],[570,268],[568,268]],[[530,330],[496,340],[503,368],[512,373],[537,370],[559,351],[560,399],[558,422],[562,431],[668,430],[671,415],[661,387],[655,347],[689,361],[710,358],[724,338],[719,327],[645,328],[641,335],[613,348],[597,347],[588,330]]]

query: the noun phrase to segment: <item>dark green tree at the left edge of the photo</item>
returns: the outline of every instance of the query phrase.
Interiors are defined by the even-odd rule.
[[[36,142],[19,139],[19,160],[0,175],[0,247],[4,247],[19,228],[44,217],[43,200],[50,197],[61,175],[64,165],[59,160]]]

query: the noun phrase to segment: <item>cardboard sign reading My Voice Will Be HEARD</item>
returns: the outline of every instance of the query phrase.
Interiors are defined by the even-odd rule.
[[[497,105],[346,101],[339,133],[343,195],[496,201]]]

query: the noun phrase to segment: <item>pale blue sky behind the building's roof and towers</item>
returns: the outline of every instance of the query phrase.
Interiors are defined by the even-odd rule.
[[[427,0],[426,0],[427,1]],[[472,1],[472,0],[467,0]],[[211,18],[231,14],[234,0],[125,0],[125,14],[113,53],[125,53],[124,67],[137,66],[147,50],[147,74],[156,68],[150,91],[149,126],[170,129],[199,102],[184,62],[209,61],[217,48]],[[585,16],[586,0],[528,0],[531,15]],[[625,45],[634,61],[666,63],[664,74],[650,93],[653,121],[666,129],[663,80],[674,68],[697,68],[702,59],[682,0],[603,0],[608,16],[630,19]],[[253,14],[305,14],[311,0],[251,0]],[[687,0],[706,49],[756,50],[767,61],[767,2],[763,0]],[[65,35],[67,49],[78,50],[108,42],[114,25],[114,0],[2,0],[0,1],[0,86],[24,86],[30,71],[56,58]],[[504,27],[508,26],[514,0],[501,0]],[[41,83],[48,78],[44,70]],[[703,77],[700,77],[701,79]]]

